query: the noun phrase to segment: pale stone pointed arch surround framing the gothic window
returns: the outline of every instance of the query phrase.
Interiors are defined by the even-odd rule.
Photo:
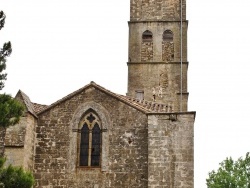
[[[92,116],[90,115],[92,113]],[[88,116],[89,114],[89,116]],[[89,120],[87,119],[89,118]],[[96,119],[95,119],[96,118]],[[95,119],[95,120],[94,120]],[[99,165],[93,166],[93,167],[100,167],[101,171],[107,171],[108,170],[108,158],[109,158],[109,132],[111,129],[111,121],[109,117],[108,111],[101,106],[100,104],[90,101],[83,104],[80,104],[70,122],[70,151],[69,151],[69,171],[75,171],[77,167],[80,167],[80,142],[81,142],[81,129],[84,125],[84,123],[88,121],[92,121],[92,130],[90,130],[93,134],[93,131],[95,134],[99,134],[100,132],[100,140],[96,139],[92,142],[98,143],[100,142],[99,148],[96,146],[96,144],[92,145],[92,149],[94,148],[94,153],[91,156],[94,158],[94,161],[98,160],[99,157]],[[97,125],[99,126],[100,130],[97,128]],[[96,128],[94,128],[96,127]],[[94,130],[93,130],[94,128]],[[95,135],[96,136],[96,135]],[[98,149],[100,149],[100,155],[97,155],[95,151],[98,152]],[[89,154],[88,154],[89,156]],[[89,161],[89,160],[88,160]],[[95,162],[92,165],[97,165]],[[91,166],[91,164],[90,164]]]

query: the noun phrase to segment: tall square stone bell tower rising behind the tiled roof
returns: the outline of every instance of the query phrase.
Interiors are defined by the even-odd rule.
[[[128,96],[187,111],[186,0],[130,1],[128,59]]]

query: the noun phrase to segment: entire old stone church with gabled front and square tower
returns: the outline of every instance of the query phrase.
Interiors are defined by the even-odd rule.
[[[131,0],[128,90],[90,82],[51,105],[26,106],[7,129],[7,163],[37,188],[193,188],[194,120],[187,111],[185,0]]]

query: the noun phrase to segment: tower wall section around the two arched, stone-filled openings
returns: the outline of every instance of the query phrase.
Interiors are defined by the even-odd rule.
[[[183,22],[183,61],[187,61],[187,22]],[[131,62],[140,62],[141,50],[144,43],[142,34],[146,30],[152,32],[153,43],[153,61],[162,62],[163,48],[163,33],[166,30],[171,30],[173,33],[173,46],[171,47],[174,53],[172,61],[180,62],[180,23],[178,22],[129,22],[129,57]]]

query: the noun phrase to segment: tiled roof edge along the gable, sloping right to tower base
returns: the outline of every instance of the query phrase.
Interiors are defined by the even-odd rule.
[[[96,84],[95,82],[90,82],[90,84],[76,90],[75,92],[63,97],[62,99],[56,101],[55,103],[52,103],[51,105],[47,106],[47,107],[44,107],[41,111],[38,112],[38,114],[41,114],[51,108],[53,108],[54,106],[60,104],[61,102],[67,100],[67,99],[70,99],[72,97],[74,97],[75,95],[81,93],[83,90],[89,88],[89,87],[94,87],[96,89],[99,89],[101,91],[103,91],[104,93],[130,105],[131,107],[134,107],[144,113],[150,113],[150,112],[155,112],[155,113],[159,113],[159,112],[171,112],[171,107],[168,107],[166,104],[158,104],[158,103],[155,103],[155,102],[148,102],[148,101],[139,101],[139,100],[136,100],[136,99],[132,99],[130,97],[127,97],[127,96],[123,96],[123,95],[118,95],[116,93],[113,93],[103,87],[101,87],[100,85]]]

